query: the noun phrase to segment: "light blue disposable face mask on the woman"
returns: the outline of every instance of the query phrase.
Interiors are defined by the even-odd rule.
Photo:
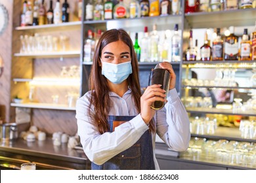
[[[121,82],[126,80],[131,73],[133,73],[131,69],[131,61],[119,64],[108,63],[104,61],[102,61],[101,63],[101,74],[114,84],[120,84]]]

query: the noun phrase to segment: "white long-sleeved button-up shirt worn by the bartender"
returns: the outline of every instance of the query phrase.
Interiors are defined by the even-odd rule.
[[[77,118],[77,134],[86,156],[93,163],[102,165],[108,159],[135,144],[148,130],[148,125],[145,124],[136,110],[131,90],[128,90],[123,97],[110,92],[112,107],[110,107],[109,115],[135,116],[135,118],[116,127],[114,132],[106,132],[101,135],[95,122],[89,116],[90,98],[91,91],[77,100],[75,116]],[[181,152],[188,148],[190,141],[188,114],[175,88],[167,93],[167,101],[165,107],[157,110],[154,116],[156,133],[171,150]],[[94,114],[93,105],[90,110]],[[152,134],[153,151],[155,151],[156,133]],[[153,152],[153,154],[155,167],[159,169],[155,153]]]

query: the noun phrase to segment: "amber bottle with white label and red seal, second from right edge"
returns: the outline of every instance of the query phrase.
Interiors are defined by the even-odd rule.
[[[251,60],[251,41],[247,29],[244,29],[244,35],[240,43],[240,60]]]

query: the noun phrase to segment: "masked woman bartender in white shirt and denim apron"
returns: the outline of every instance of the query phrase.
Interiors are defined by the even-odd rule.
[[[167,100],[155,84],[140,92],[139,67],[133,42],[123,29],[103,33],[96,45],[91,69],[91,91],[77,100],[77,133],[91,169],[159,169],[156,134],[175,151],[190,141],[189,121],[175,90],[170,63],[160,64],[171,73]],[[154,101],[165,107],[153,110]]]

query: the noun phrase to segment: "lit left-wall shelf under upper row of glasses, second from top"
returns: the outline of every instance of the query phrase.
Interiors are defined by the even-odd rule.
[[[59,58],[59,57],[79,57],[81,52],[79,50],[66,51],[66,52],[41,52],[35,54],[21,54],[16,53],[16,57],[32,57],[32,58]]]

